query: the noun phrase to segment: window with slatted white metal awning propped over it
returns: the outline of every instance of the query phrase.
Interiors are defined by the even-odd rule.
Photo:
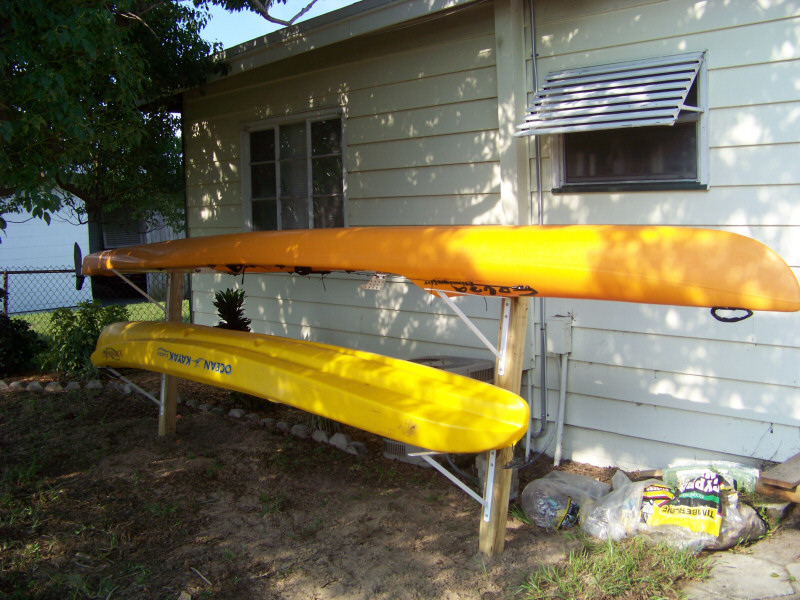
[[[550,73],[520,135],[553,138],[553,191],[703,189],[704,53]]]

